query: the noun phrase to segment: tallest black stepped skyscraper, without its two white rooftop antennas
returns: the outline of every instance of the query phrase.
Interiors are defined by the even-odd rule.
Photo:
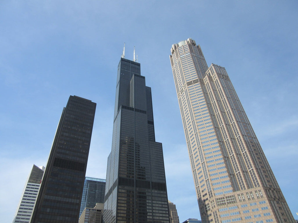
[[[151,88],[140,64],[121,58],[116,86],[104,222],[168,223],[162,144],[155,142]]]

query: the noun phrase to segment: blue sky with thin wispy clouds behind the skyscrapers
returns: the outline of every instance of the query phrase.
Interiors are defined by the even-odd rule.
[[[193,38],[226,68],[297,219],[297,1],[1,1],[0,222],[33,164],[46,165],[69,95],[97,103],[86,175],[105,178],[117,65],[136,47],[152,88],[168,198],[200,219],[169,54]]]

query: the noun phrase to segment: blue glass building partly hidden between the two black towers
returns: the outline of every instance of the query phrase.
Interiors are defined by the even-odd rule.
[[[105,197],[105,179],[86,177],[84,181],[80,216],[85,208],[94,208],[96,203],[103,203]]]

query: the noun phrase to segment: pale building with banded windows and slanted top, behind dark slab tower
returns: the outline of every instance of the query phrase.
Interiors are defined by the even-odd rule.
[[[18,209],[13,218],[13,223],[29,223],[32,216],[33,207],[38,194],[44,167],[33,165],[28,176],[23,195],[18,205]]]

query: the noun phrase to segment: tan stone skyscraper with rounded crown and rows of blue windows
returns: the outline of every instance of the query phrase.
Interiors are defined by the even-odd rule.
[[[225,68],[192,39],[171,53],[202,222],[294,222]]]

